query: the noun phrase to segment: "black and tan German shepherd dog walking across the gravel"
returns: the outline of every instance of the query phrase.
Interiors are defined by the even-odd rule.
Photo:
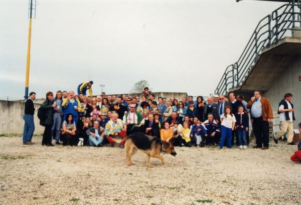
[[[122,141],[121,138],[118,140],[116,137],[113,137],[116,142]],[[124,140],[124,138],[123,138]],[[160,153],[171,154],[176,156],[177,153],[174,149],[175,138],[170,139],[169,142],[161,141],[158,137],[149,136],[142,132],[133,133],[127,136],[125,139],[125,151],[126,151],[126,164],[128,166],[134,164],[131,161],[131,157],[137,152],[140,151],[146,154],[146,164],[148,167],[153,167],[149,163],[150,157],[155,157],[161,159],[162,164],[165,164],[163,156],[160,156]]]

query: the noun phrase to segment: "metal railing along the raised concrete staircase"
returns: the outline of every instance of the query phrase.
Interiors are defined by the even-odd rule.
[[[226,68],[215,94],[227,94],[229,88],[239,87],[256,64],[262,49],[277,44],[284,37],[301,31],[301,0],[291,1],[258,23],[238,61]]]

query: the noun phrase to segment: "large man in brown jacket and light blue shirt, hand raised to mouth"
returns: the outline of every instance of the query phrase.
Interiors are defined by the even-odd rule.
[[[251,109],[251,119],[253,121],[253,131],[256,137],[256,145],[253,148],[268,149],[269,146],[269,122],[273,118],[272,106],[267,98],[261,97],[259,91],[254,92],[254,96],[247,104]],[[263,144],[263,147],[262,147]]]

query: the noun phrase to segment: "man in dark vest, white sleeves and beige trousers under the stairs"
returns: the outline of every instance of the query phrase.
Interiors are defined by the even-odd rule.
[[[292,100],[292,94],[286,93],[284,99],[282,99],[278,106],[278,114],[280,120],[280,131],[274,136],[274,142],[278,144],[278,139],[287,132],[287,144],[295,145],[292,141],[293,138],[293,121],[295,120],[293,112],[293,104],[290,102]]]

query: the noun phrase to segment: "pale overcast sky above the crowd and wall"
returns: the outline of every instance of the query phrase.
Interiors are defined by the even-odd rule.
[[[29,90],[76,90],[93,80],[128,93],[147,80],[154,92],[208,96],[237,61],[253,30],[283,3],[244,0],[37,0]],[[0,98],[22,99],[28,0],[0,1]],[[91,79],[89,79],[89,71]]]

